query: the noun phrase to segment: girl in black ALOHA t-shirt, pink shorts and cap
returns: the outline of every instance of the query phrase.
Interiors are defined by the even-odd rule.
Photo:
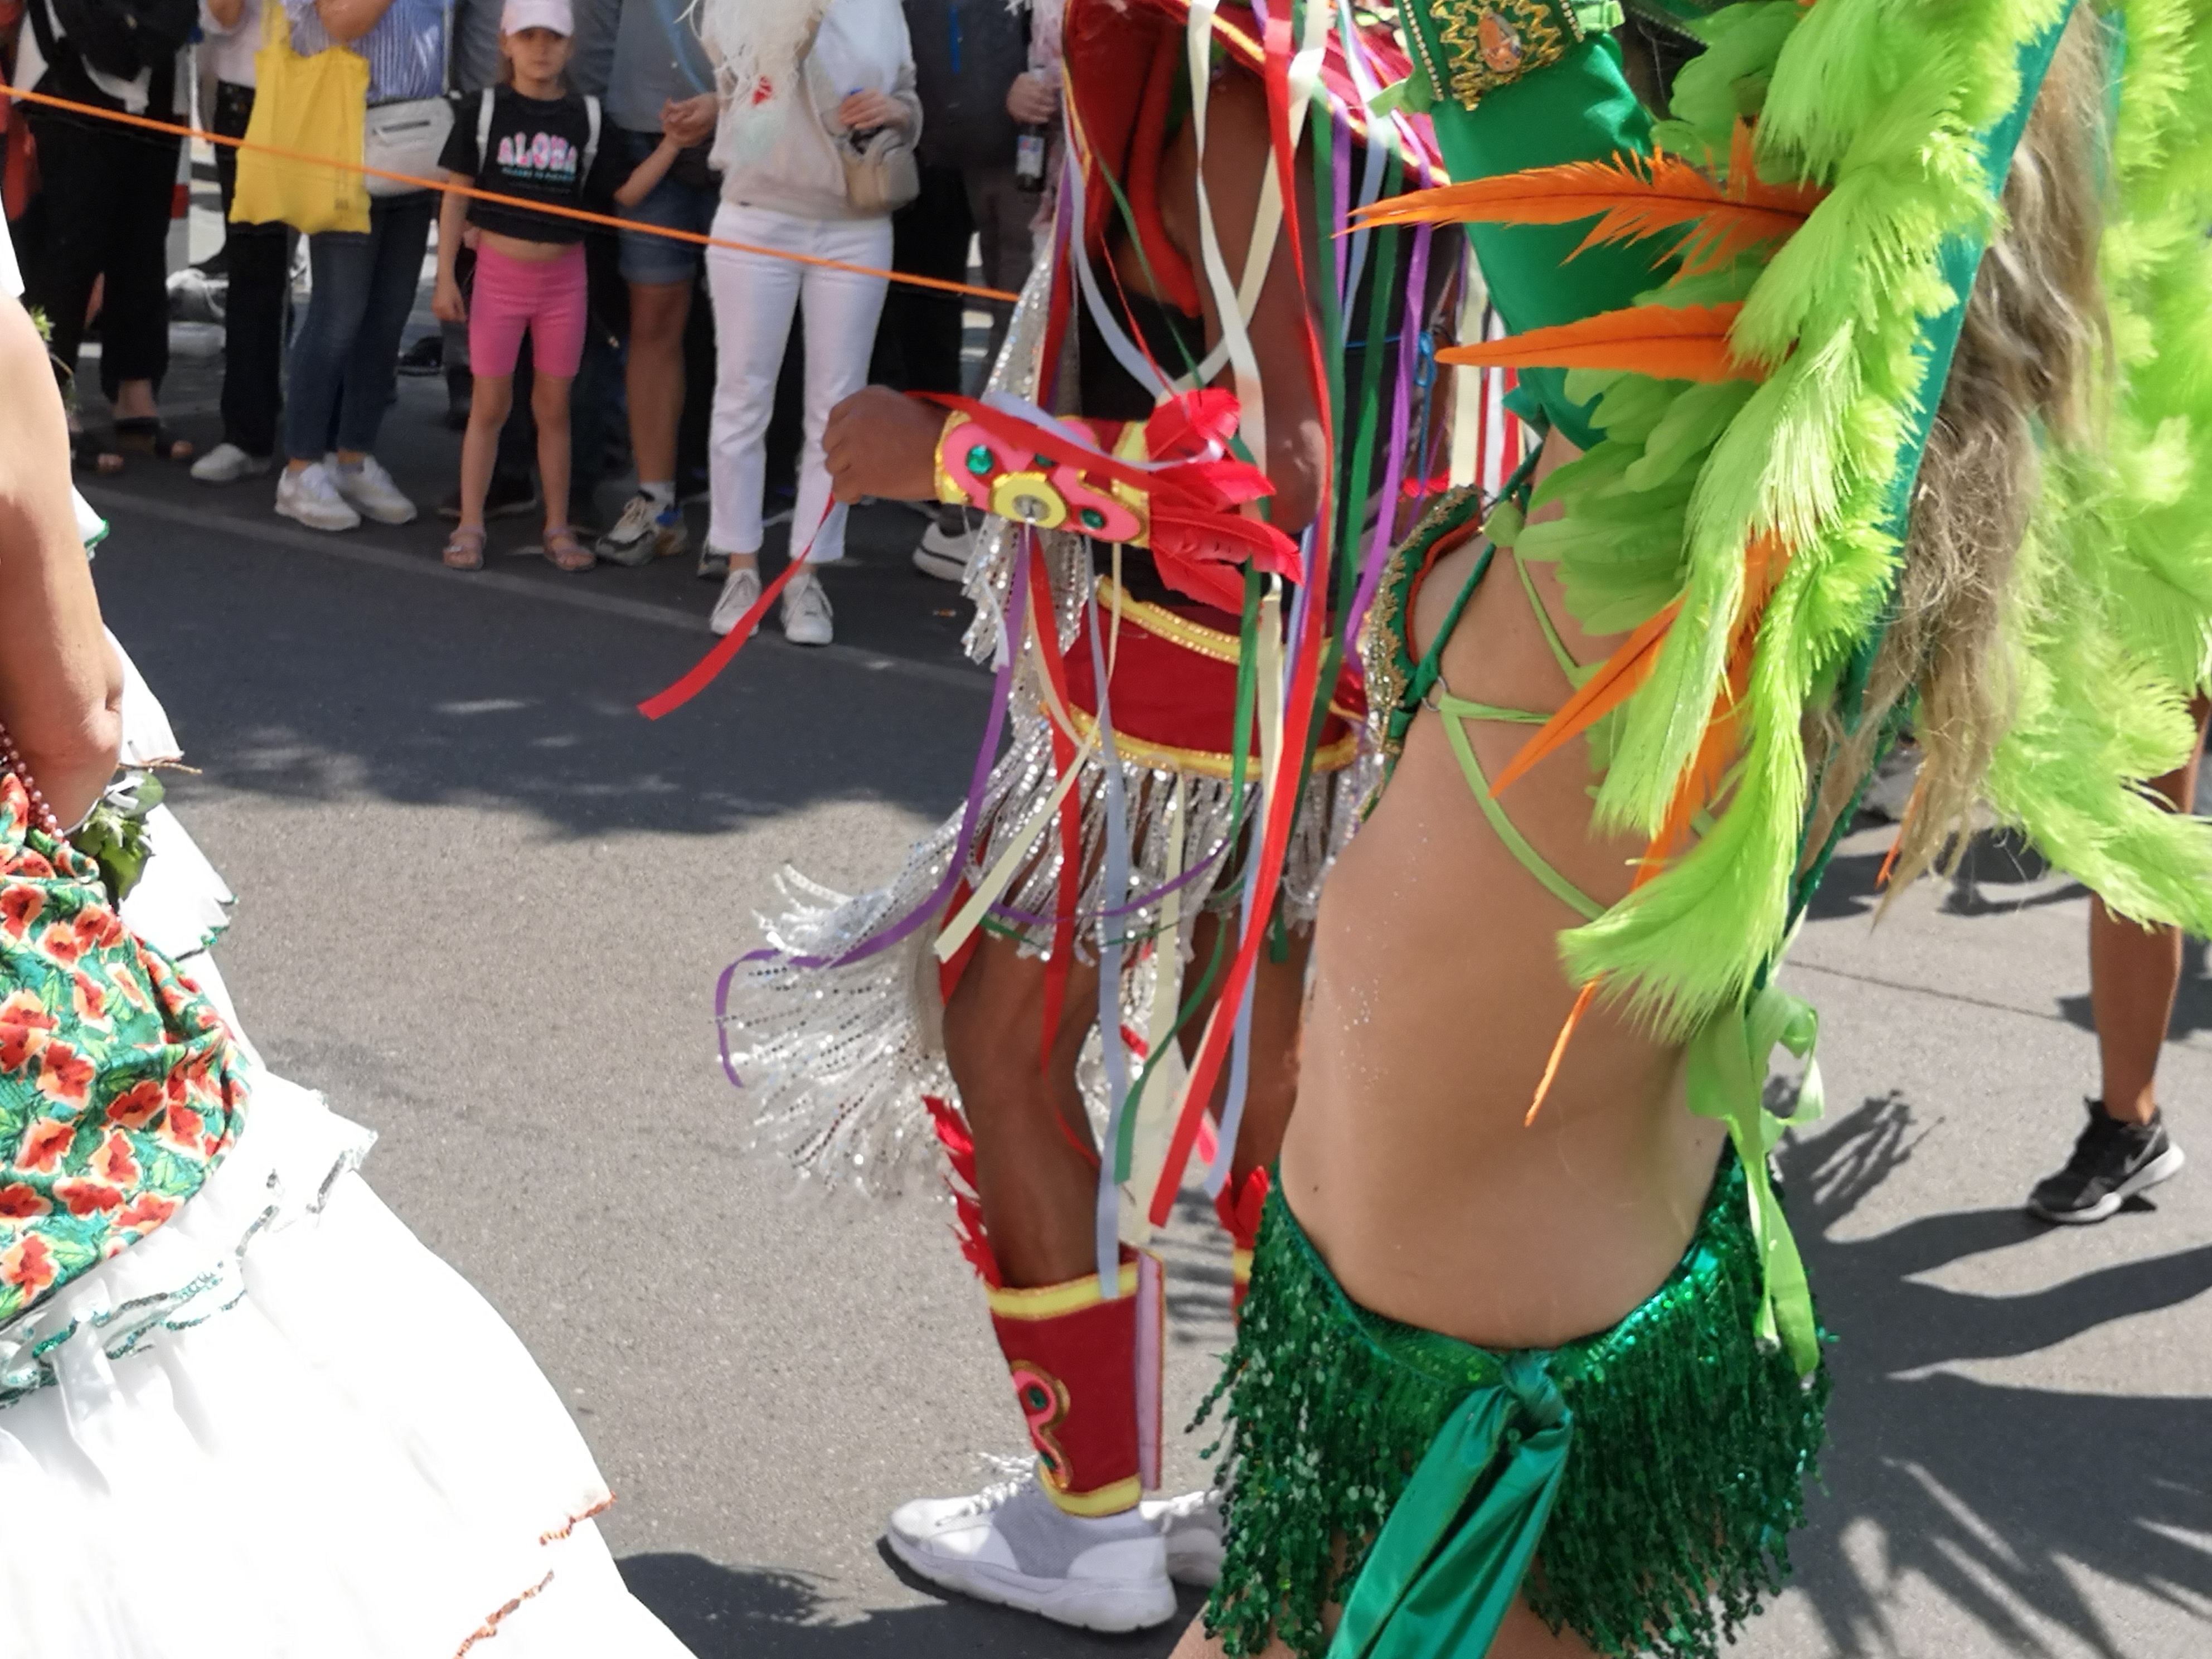
[[[602,144],[599,100],[571,93],[562,80],[573,31],[568,0],[507,0],[500,53],[509,84],[453,100],[453,135],[438,157],[447,184],[608,212],[633,206],[661,181],[681,146],[664,137],[633,170],[619,133]],[[476,248],[467,301],[453,276],[465,237]],[[546,502],[544,553],[560,571],[588,571],[591,549],[568,526],[568,383],[584,358],[584,223],[449,190],[438,217],[431,310],[442,323],[469,325],[469,367],[476,372],[469,436],[460,445],[460,526],[447,538],[447,566],[484,568],[484,491],[529,330],[538,369],[531,411]]]

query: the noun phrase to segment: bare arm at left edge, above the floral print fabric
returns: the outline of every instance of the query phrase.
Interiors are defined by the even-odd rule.
[[[122,664],[69,495],[69,422],[46,343],[0,299],[0,721],[62,823],[77,823],[115,776]]]

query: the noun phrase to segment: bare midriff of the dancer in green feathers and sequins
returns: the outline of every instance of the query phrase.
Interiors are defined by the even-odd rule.
[[[1540,476],[1573,453],[1555,438]],[[1444,626],[1475,560],[1467,544],[1422,582],[1416,653]],[[1575,661],[1610,655],[1619,637],[1575,626],[1551,566],[1531,577]],[[1535,712],[1573,690],[1531,593],[1502,571],[1447,641],[1442,684],[1458,699]],[[1668,1276],[1725,1130],[1683,1108],[1681,1046],[1601,1004],[1524,1126],[1577,995],[1559,933],[1584,918],[1469,799],[1444,719],[1425,708],[1413,721],[1380,805],[1323,891],[1283,1197],[1360,1305],[1484,1347],[1557,1347],[1613,1325]],[[1535,728],[1467,719],[1462,730],[1480,770],[1498,776]],[[1644,841],[1593,832],[1595,781],[1577,737],[1502,805],[1544,863],[1610,905]]]

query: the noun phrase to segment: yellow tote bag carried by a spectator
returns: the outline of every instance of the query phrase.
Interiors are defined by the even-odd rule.
[[[263,0],[261,51],[254,53],[254,113],[248,144],[294,155],[361,159],[361,126],[369,108],[369,60],[341,44],[303,58],[292,51],[283,0]],[[239,150],[239,188],[230,217],[241,226],[285,223],[319,230],[369,228],[367,179],[352,168],[292,161],[268,150]]]

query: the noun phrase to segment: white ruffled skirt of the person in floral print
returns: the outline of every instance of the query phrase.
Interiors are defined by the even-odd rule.
[[[0,1329],[4,1659],[681,1659],[544,1374],[265,1071],[173,1221]]]

